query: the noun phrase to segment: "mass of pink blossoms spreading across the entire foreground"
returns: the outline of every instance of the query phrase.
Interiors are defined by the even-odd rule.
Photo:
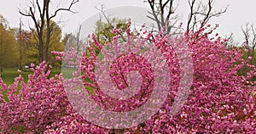
[[[42,63],[38,68],[32,69],[34,73],[29,76],[27,83],[19,76],[13,85],[7,87],[0,78],[0,89],[7,92],[8,97],[8,99],[3,98],[0,94],[1,131],[127,134],[256,133],[256,87],[254,86],[256,82],[251,81],[256,75],[256,67],[241,59],[239,48],[225,47],[226,40],[222,40],[218,35],[210,38],[212,31],[209,25],[201,28],[200,31],[185,33],[182,36],[160,33],[152,37],[153,35],[144,27],[142,33],[136,35],[131,33],[129,27],[125,31],[126,42],[119,43],[118,35],[113,37],[113,42],[100,44],[92,35],[90,46],[86,47],[81,57],[77,56],[73,49],[67,53],[54,52],[59,54],[58,59],[66,59],[68,64],[76,64],[80,75],[69,80],[64,80],[62,75],[48,78],[50,69],[46,71],[47,65]],[[148,42],[149,40],[151,42]],[[167,80],[170,87],[166,87],[163,83],[157,85],[158,91],[153,90],[157,81],[161,81],[158,77],[154,77],[154,74],[164,67],[161,66],[162,62],[157,51],[149,53],[149,57],[143,57],[143,52],[148,50],[148,47],[145,47],[147,45],[156,47],[165,59],[169,72],[160,75],[160,78],[170,77],[170,81]],[[187,58],[188,54],[188,49],[184,49],[183,45],[189,47],[193,61],[192,69],[181,64],[181,60]],[[131,50],[128,50],[130,48]],[[103,55],[96,53],[96,50],[101,50]],[[123,53],[124,51],[130,53]],[[114,62],[104,59],[106,57],[113,59]],[[74,59],[77,59],[79,64]],[[109,70],[104,72],[104,68],[109,63],[112,63]],[[155,65],[155,63],[160,64]],[[243,66],[251,70],[246,76],[237,75],[237,71]],[[109,75],[108,81],[99,81],[105,76],[98,76],[99,72],[96,70],[99,69],[102,70],[99,72]],[[138,72],[137,75],[142,77],[131,75],[129,78],[129,73],[135,70]],[[189,70],[193,70],[189,92],[186,90],[179,92],[183,83],[181,74],[189,75]],[[106,83],[106,87],[109,86],[107,82],[111,82],[113,87],[125,91],[131,78],[141,81],[140,90],[135,91],[132,97],[128,94],[127,98],[111,98],[114,94],[108,94],[108,91],[102,92],[101,82]],[[187,87],[186,83],[189,81],[184,83]],[[79,90],[73,90],[78,87]],[[162,90],[165,88],[167,92]],[[129,128],[117,126],[119,129],[108,127],[119,120],[103,118],[103,115],[110,117],[111,114],[91,111],[89,109],[98,107],[94,108],[92,102],[84,102],[84,99],[80,99],[87,95],[97,103],[97,106],[121,113],[143,107],[143,104],[151,100],[154,93],[159,93],[160,98],[153,98],[152,103],[155,106],[160,103],[160,109],[144,108],[140,111],[140,115],[136,116],[137,119],[148,117],[150,115],[148,113],[158,110],[144,122]],[[186,95],[187,97],[184,98],[175,98]],[[166,99],[160,102],[164,97]],[[177,103],[177,107],[174,107],[180,108],[177,113],[170,114],[173,111],[172,105],[177,99],[181,102],[182,99],[186,100],[184,103]],[[84,112],[81,113],[82,109]],[[103,121],[101,125],[96,125],[95,122],[86,120],[88,116],[95,122],[107,120],[108,124],[104,124]],[[124,114],[119,118],[121,121],[126,121],[128,117],[133,116]],[[121,121],[119,126],[125,126]]]

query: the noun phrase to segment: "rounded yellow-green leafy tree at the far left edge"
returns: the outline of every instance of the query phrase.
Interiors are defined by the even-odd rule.
[[[14,67],[18,58],[14,33],[7,27],[8,21],[0,15],[0,72],[4,67]]]

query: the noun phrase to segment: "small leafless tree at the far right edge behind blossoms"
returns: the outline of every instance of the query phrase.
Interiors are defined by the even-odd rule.
[[[241,26],[241,31],[244,36],[244,47],[248,50],[248,56],[251,56],[251,64],[253,64],[253,56],[256,48],[256,28],[253,24],[247,23],[245,27]]]

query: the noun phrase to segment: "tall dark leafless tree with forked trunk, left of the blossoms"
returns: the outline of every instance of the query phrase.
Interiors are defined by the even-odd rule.
[[[28,7],[28,10],[25,12],[19,11],[20,14],[30,17],[35,25],[35,31],[38,42],[38,61],[47,61],[49,57],[49,43],[51,32],[53,31],[54,25],[51,25],[50,21],[53,20],[57,14],[61,11],[67,11],[71,13],[71,9],[75,3],[78,3],[79,0],[73,0],[68,8],[56,8],[53,14],[50,14],[50,3],[51,0],[32,0],[31,6]],[[46,34],[44,33],[44,27],[46,27]],[[45,35],[44,35],[45,34]],[[46,41],[44,42],[44,36],[46,36]]]

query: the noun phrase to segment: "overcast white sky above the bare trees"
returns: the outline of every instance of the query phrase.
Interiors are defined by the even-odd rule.
[[[2,14],[8,21],[11,27],[18,27],[21,15],[19,14],[19,8],[25,10],[30,5],[30,0],[9,0],[3,1],[0,4],[0,14]],[[67,7],[68,2],[71,0],[56,0],[55,3],[60,3],[59,7]],[[212,24],[218,23],[218,33],[221,36],[230,35],[234,33],[237,42],[241,42],[241,25],[245,25],[247,22],[253,22],[256,26],[256,1],[255,0],[216,0],[216,6],[214,8],[224,8],[230,5],[229,10],[222,17],[211,21]],[[187,17],[186,12],[188,9],[187,0],[179,0],[179,7],[177,12],[183,15],[183,18]],[[59,14],[55,19],[62,20],[61,27],[63,32],[73,32],[82,24],[84,20],[87,20],[92,15],[98,13],[95,6],[99,3],[105,4],[107,8],[115,8],[121,6],[137,6],[148,8],[147,3],[143,3],[143,0],[80,0],[79,3],[73,6],[73,10],[79,13],[71,14],[64,12]],[[135,12],[136,11],[131,11]],[[32,21],[22,17],[25,27],[28,24],[32,25]]]

